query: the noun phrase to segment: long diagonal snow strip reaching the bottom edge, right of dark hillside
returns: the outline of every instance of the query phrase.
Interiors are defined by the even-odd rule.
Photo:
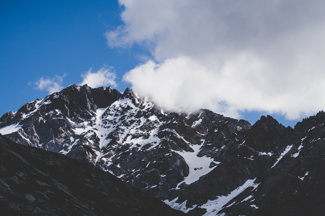
[[[254,189],[258,187],[259,184],[254,183],[254,179],[248,179],[242,186],[236,188],[231,191],[230,194],[226,196],[218,196],[217,199],[208,200],[205,204],[199,206],[200,208],[206,209],[207,212],[203,216],[214,216],[220,210],[227,205],[227,203],[237,197],[240,193],[242,193],[246,188],[253,187]]]

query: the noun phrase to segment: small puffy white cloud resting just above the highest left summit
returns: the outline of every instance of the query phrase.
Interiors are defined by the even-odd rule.
[[[104,67],[100,68],[97,72],[93,72],[93,69],[90,68],[87,72],[81,74],[81,76],[83,77],[83,81],[79,85],[87,84],[92,88],[97,88],[101,86],[116,87],[116,75],[114,72],[112,72],[112,69],[112,67],[105,65]]]

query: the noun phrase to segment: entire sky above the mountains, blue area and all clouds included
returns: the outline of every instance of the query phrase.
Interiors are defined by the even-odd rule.
[[[0,115],[87,83],[293,127],[325,107],[324,9],[316,0],[1,1]]]

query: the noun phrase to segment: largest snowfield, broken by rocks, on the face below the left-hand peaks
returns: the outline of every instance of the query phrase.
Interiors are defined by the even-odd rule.
[[[143,105],[147,109],[154,106],[153,103],[148,101],[144,101]],[[161,139],[158,137],[158,131],[164,122],[159,121],[155,115],[150,116],[148,119],[145,117],[138,119],[136,115],[139,111],[142,112],[140,108],[134,106],[132,100],[124,98],[115,101],[107,108],[97,109],[91,121],[77,124],[70,119],[68,120],[76,127],[73,130],[77,135],[83,134],[88,143],[98,145],[99,149],[94,149],[97,155],[96,161],[98,161],[108,154],[102,152],[102,149],[112,140],[108,139],[108,136],[115,137],[117,144],[128,145],[130,146],[129,149],[136,148],[137,151],[148,143],[151,144],[148,150],[159,145]],[[129,122],[130,125],[126,125],[125,122]],[[99,140],[95,141],[96,143],[93,139],[94,136],[99,138]],[[114,155],[110,158],[112,157]],[[104,161],[105,166],[109,166],[112,162],[111,159],[105,159]]]

